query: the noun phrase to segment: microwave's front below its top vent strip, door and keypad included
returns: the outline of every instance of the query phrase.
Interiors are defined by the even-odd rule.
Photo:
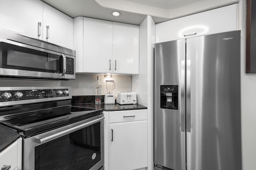
[[[75,79],[74,70],[74,56],[10,40],[0,42],[1,76]]]

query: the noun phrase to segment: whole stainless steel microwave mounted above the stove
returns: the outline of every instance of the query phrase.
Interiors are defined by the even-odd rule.
[[[75,79],[72,49],[0,29],[0,78]]]

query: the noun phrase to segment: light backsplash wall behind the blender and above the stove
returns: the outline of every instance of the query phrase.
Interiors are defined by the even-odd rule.
[[[8,80],[0,79],[1,87],[54,87],[54,86],[71,86],[72,96],[94,95],[94,85],[97,82],[97,76],[100,76],[102,85],[102,95],[106,94],[106,78],[104,75],[96,74],[76,74],[75,80]],[[132,76],[112,76],[112,80],[116,83],[114,95],[117,92],[132,91]]]

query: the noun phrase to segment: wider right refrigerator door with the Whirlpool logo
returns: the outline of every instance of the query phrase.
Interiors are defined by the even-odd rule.
[[[240,31],[187,39],[188,170],[241,170]]]

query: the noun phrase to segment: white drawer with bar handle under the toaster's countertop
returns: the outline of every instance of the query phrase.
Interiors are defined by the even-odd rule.
[[[109,123],[120,123],[129,121],[147,120],[147,109],[126,110],[126,111],[110,111],[108,114]]]

